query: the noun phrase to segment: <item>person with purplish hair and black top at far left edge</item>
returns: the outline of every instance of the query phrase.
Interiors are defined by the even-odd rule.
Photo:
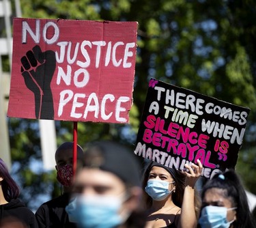
[[[35,215],[18,199],[19,195],[20,188],[0,158],[0,227],[10,225],[11,220],[20,227],[38,227]]]

